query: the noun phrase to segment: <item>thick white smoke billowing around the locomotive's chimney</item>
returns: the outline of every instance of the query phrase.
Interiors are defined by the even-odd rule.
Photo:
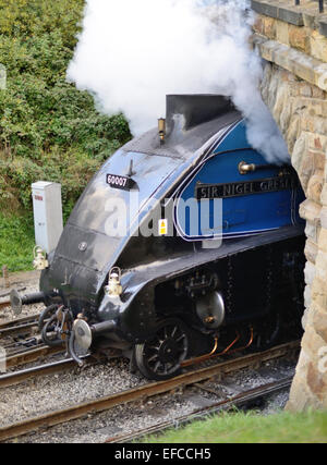
[[[122,111],[134,135],[156,125],[167,94],[220,94],[247,122],[269,162],[288,150],[264,105],[259,57],[249,47],[249,0],[87,0],[68,79],[100,111]]]

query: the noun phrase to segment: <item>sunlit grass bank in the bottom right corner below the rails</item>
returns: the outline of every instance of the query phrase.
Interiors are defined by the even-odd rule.
[[[280,412],[263,416],[251,413],[223,413],[205,421],[195,421],[146,443],[326,443],[327,412],[291,414]]]

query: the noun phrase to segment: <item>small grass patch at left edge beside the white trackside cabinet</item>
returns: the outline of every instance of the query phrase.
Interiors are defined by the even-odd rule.
[[[34,223],[31,215],[13,216],[0,212],[0,271],[32,270]]]

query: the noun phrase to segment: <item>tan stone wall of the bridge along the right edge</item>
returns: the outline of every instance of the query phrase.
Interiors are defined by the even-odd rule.
[[[305,334],[288,408],[327,408],[327,15],[303,0],[253,9],[254,45],[266,60],[262,94],[306,195]]]

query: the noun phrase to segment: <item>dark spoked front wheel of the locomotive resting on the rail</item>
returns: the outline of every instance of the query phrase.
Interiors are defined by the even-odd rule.
[[[155,334],[135,345],[134,356],[141,374],[156,381],[178,376],[186,358],[189,336],[185,325],[177,319],[162,321]]]

